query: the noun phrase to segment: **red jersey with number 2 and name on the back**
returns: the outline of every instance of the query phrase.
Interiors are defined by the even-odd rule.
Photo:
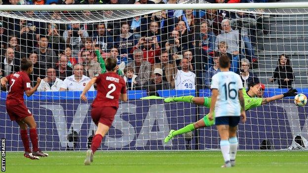
[[[115,106],[118,108],[120,94],[126,94],[124,79],[114,72],[106,72],[96,78],[97,96],[92,107]]]

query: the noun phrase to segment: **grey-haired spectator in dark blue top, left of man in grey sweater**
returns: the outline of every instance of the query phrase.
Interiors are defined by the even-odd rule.
[[[207,21],[202,21],[200,26],[202,54],[205,56],[212,55],[214,53],[216,36],[209,28]]]

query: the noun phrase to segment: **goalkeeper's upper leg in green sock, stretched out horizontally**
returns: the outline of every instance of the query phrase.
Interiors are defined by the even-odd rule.
[[[197,105],[203,105],[205,107],[210,107],[211,98],[209,97],[193,97],[193,96],[182,96],[182,97],[168,97],[164,99],[166,103],[172,102],[186,102]]]

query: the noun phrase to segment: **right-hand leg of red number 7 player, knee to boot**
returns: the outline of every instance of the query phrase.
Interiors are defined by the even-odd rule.
[[[39,150],[39,141],[38,141],[38,133],[37,133],[37,123],[34,120],[33,116],[27,116],[23,119],[23,122],[25,122],[30,130],[30,139],[31,139],[31,143],[32,143],[32,148],[33,148],[33,152],[32,154],[34,156],[41,156],[41,157],[46,157],[48,156],[47,153],[43,153]]]

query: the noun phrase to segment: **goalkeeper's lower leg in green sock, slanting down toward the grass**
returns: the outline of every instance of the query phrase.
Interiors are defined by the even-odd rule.
[[[183,127],[182,129],[179,130],[171,130],[169,132],[169,135],[164,139],[164,142],[167,143],[170,139],[172,139],[173,137],[177,136],[177,135],[181,135],[181,134],[185,134],[188,132],[192,132],[196,129],[200,129],[202,127],[210,127],[214,125],[214,120],[209,120],[207,115],[204,116],[202,119],[198,120],[195,123],[189,124],[185,127]]]

